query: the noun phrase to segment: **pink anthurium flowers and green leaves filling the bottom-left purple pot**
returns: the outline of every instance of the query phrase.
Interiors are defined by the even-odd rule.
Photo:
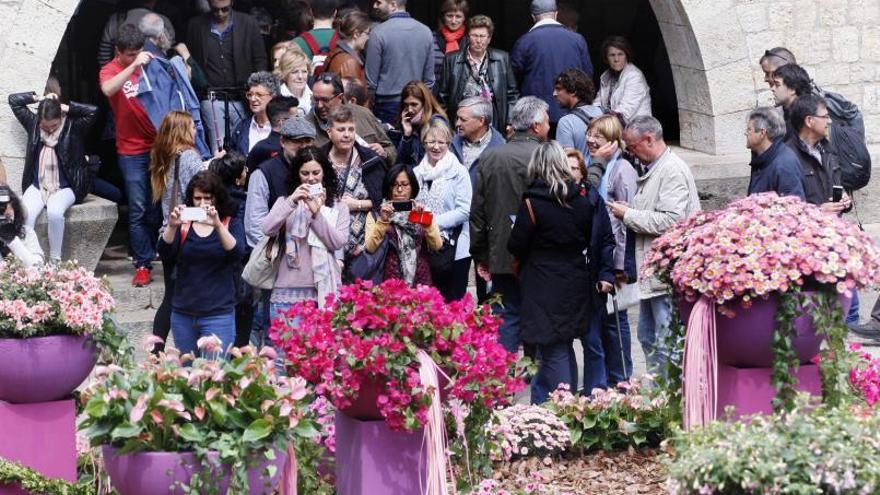
[[[203,353],[219,346],[215,337],[199,340]],[[99,366],[80,396],[78,429],[93,446],[111,445],[120,455],[217,451],[236,493],[247,491],[248,464],[257,457],[274,459],[295,437],[317,435],[305,380],[279,376],[271,348],[232,348],[224,361],[193,358],[169,349],[132,369]],[[209,482],[192,481],[191,493]]]

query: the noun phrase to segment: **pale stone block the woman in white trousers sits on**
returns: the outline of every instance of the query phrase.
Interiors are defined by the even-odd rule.
[[[94,270],[104,252],[116,225],[116,204],[97,196],[87,196],[83,203],[67,210],[64,224],[64,244],[61,257],[77,260],[80,265]],[[35,230],[46,256],[49,255],[49,236],[47,232],[46,210],[40,213]]]

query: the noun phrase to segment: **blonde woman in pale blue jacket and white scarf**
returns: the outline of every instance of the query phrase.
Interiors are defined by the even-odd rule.
[[[413,170],[419,182],[416,201],[434,213],[443,237],[443,249],[454,253],[448,268],[435,263],[431,278],[447,301],[456,301],[467,292],[471,264],[468,217],[473,190],[470,175],[455,153],[449,151],[452,130],[446,121],[428,122],[422,129],[422,142],[425,156]]]

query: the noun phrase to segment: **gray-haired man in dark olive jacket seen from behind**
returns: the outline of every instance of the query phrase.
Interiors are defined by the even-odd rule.
[[[477,273],[492,290],[501,294],[502,306],[493,308],[502,317],[499,342],[509,352],[517,352],[519,334],[519,282],[513,275],[513,256],[507,241],[512,219],[519,210],[528,187],[528,168],[532,152],[547,140],[550,130],[549,106],[540,98],[520,98],[510,114],[514,135],[506,144],[485,151],[480,157],[471,201],[471,256]]]

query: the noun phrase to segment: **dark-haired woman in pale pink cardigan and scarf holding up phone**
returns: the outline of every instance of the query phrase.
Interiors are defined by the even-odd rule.
[[[278,198],[263,220],[263,234],[278,236],[284,253],[269,311],[274,319],[294,303],[318,301],[342,283],[336,252],[348,241],[348,206],[336,199],[336,172],[327,155],[314,146],[293,159],[288,195]]]

